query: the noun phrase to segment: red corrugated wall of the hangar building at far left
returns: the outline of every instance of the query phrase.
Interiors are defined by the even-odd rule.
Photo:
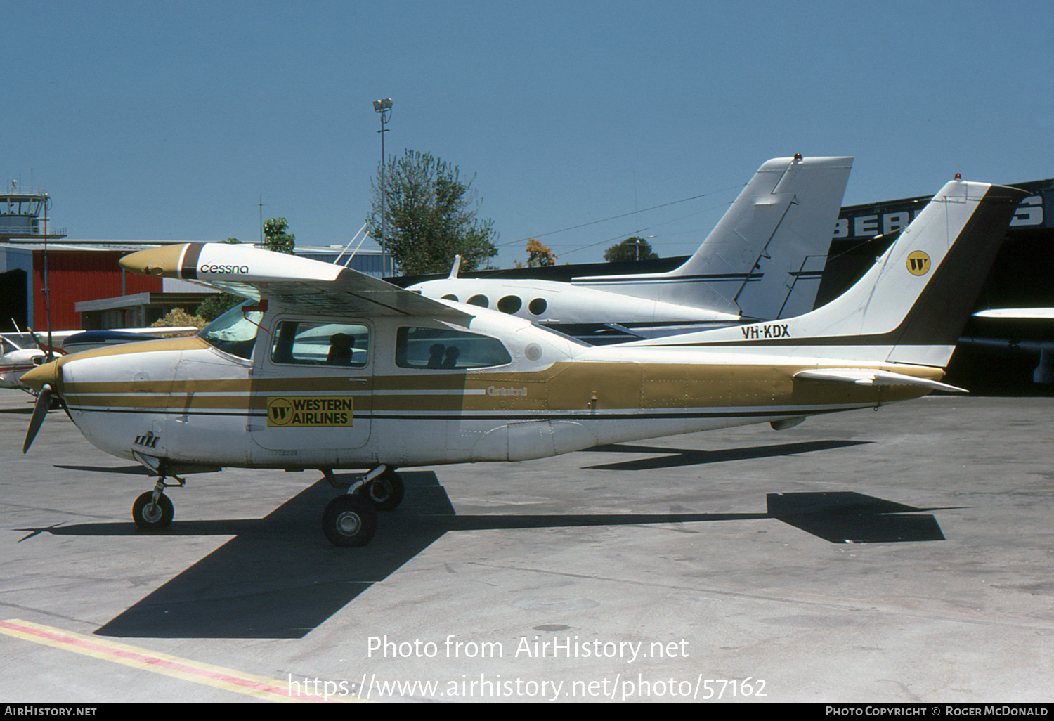
[[[121,251],[47,250],[47,280],[52,291],[52,330],[77,330],[80,316],[74,304],[121,295]],[[44,253],[33,252],[33,327],[47,328],[44,305]],[[124,295],[160,293],[161,278],[124,274]]]

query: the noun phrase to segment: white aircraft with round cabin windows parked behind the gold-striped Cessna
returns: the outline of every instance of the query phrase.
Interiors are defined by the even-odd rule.
[[[666,273],[570,282],[460,278],[455,262],[449,277],[410,290],[539,323],[617,323],[645,336],[664,325],[800,315],[816,301],[852,167],[851,157],[767,160],[696,253]]]

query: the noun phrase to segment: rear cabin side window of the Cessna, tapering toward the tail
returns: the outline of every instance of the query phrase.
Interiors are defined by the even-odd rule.
[[[399,328],[395,365],[399,368],[466,370],[512,363],[501,340],[446,328]]]

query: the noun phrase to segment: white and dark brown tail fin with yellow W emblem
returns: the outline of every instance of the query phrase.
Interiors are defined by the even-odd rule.
[[[719,345],[818,359],[944,367],[1017,203],[1016,188],[944,186],[860,280],[815,311],[647,345]]]

